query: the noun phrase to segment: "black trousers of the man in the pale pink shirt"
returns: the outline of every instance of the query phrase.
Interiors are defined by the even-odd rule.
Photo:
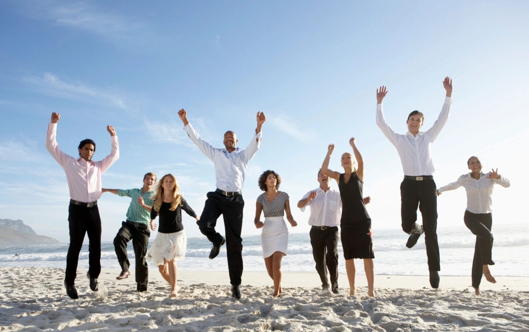
[[[68,207],[70,228],[70,247],[66,256],[66,277],[68,285],[73,285],[77,276],[79,252],[83,246],[85,234],[88,234],[88,273],[98,278],[101,273],[101,218],[99,209],[70,204]]]

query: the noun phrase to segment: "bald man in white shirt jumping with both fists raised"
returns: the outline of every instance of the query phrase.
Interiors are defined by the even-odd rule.
[[[215,178],[217,189],[207,193],[207,200],[202,210],[202,215],[197,224],[200,232],[213,243],[209,259],[214,259],[226,243],[226,254],[228,270],[230,271],[230,283],[232,284],[232,297],[241,298],[239,288],[242,277],[242,212],[244,200],[242,199],[242,187],[246,176],[248,163],[259,150],[261,144],[261,126],[266,121],[265,114],[257,112],[257,128],[247,149],[236,147],[237,136],[232,131],[224,134],[225,149],[218,149],[204,141],[187,121],[187,113],[184,109],[178,111],[178,116],[184,123],[187,135],[198,146],[215,165]],[[223,215],[226,238],[215,230],[218,217]]]

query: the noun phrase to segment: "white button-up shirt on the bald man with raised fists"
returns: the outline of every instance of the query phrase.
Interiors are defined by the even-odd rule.
[[[226,149],[218,149],[204,141],[190,123],[184,127],[184,130],[191,141],[198,146],[198,149],[213,161],[217,188],[227,192],[241,191],[244,186],[248,162],[261,145],[262,131],[254,132],[255,134],[245,150],[237,147],[235,151],[230,153]]]

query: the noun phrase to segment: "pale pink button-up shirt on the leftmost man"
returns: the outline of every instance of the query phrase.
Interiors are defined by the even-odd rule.
[[[101,197],[101,174],[120,158],[120,143],[117,135],[111,136],[112,150],[101,161],[86,161],[74,158],[59,149],[57,144],[57,123],[48,125],[46,149],[65,170],[70,198],[84,203],[92,203]]]

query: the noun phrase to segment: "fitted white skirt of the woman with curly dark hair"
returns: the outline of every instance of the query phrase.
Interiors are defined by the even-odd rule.
[[[270,257],[276,251],[287,254],[288,228],[283,217],[266,217],[262,227],[261,246],[263,258]]]

